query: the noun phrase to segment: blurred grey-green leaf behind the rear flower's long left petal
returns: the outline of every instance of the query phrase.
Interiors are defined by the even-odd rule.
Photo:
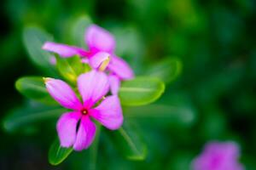
[[[36,26],[28,26],[23,31],[23,42],[30,59],[32,59],[42,71],[49,73],[49,75],[55,75],[56,73],[54,65],[50,63],[54,55],[45,51],[42,47],[44,42],[52,41],[52,39],[49,34]]]

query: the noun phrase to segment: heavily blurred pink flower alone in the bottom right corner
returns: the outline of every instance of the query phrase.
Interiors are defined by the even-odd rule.
[[[239,147],[235,142],[208,143],[192,162],[194,170],[243,170],[238,162]]]

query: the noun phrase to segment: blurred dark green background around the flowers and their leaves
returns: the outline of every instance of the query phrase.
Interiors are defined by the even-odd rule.
[[[249,170],[256,169],[255,1],[4,0],[0,13],[1,120],[25,102],[15,90],[15,80],[44,76],[27,57],[24,28],[39,26],[55,42],[71,44],[73,23],[88,17],[113,32],[116,54],[137,75],[154,74],[152,66],[160,71],[168,59],[182,63],[175,80],[164,77],[166,93],[154,104],[158,107],[127,109],[156,115],[135,120],[148,145],[146,160],[126,160],[103,135],[98,169],[186,170],[212,139],[238,142],[241,162]],[[163,69],[172,70],[168,65]],[[0,169],[87,169],[86,150],[73,153],[58,167],[49,165],[55,120],[38,122],[24,132],[7,133],[2,128],[0,133]]]

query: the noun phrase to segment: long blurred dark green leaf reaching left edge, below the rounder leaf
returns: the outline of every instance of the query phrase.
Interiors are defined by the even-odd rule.
[[[38,105],[35,103],[20,106],[9,111],[3,118],[3,128],[9,133],[20,131],[40,121],[54,119],[67,111],[64,108],[55,106]]]

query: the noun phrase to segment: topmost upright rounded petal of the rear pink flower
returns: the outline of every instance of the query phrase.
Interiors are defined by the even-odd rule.
[[[110,32],[100,26],[92,25],[85,32],[85,42],[90,51],[104,51],[113,53],[115,40]]]

